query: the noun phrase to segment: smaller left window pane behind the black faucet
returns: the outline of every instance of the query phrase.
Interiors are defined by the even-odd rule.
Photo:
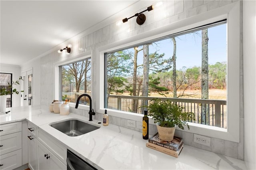
[[[59,66],[60,70],[60,99],[66,99],[76,103],[78,96],[83,93],[91,93],[91,59],[86,58],[80,61]],[[82,105],[89,105],[89,100],[80,100]]]

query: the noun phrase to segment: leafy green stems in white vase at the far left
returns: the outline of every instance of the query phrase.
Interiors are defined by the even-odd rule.
[[[8,83],[8,86],[6,88],[1,88],[0,89],[0,112],[5,112],[6,110],[6,95],[11,95],[11,94],[19,94],[19,92],[23,91],[17,91],[17,89],[13,89],[13,85],[19,85],[20,80],[22,78],[20,77],[17,81],[12,81],[12,83]]]

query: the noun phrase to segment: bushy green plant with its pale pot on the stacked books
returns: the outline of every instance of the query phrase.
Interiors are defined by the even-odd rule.
[[[183,112],[183,107],[169,100],[153,99],[146,108],[148,108],[148,115],[152,116],[154,123],[156,123],[159,138],[164,141],[173,140],[177,125],[181,129],[184,129],[186,125],[189,129],[187,121],[194,120],[194,113]]]

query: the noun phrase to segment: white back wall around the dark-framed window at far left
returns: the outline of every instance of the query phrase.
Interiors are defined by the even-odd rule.
[[[16,81],[21,76],[20,66],[18,65],[9,65],[9,64],[0,64],[1,73],[12,73],[12,81]],[[21,82],[20,82],[21,83]],[[15,86],[18,91],[20,91],[20,85]],[[12,95],[12,107],[20,106],[20,94]]]

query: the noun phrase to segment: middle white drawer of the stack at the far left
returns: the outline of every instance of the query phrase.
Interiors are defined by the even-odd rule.
[[[0,155],[21,149],[21,132],[6,134],[0,138]]]

